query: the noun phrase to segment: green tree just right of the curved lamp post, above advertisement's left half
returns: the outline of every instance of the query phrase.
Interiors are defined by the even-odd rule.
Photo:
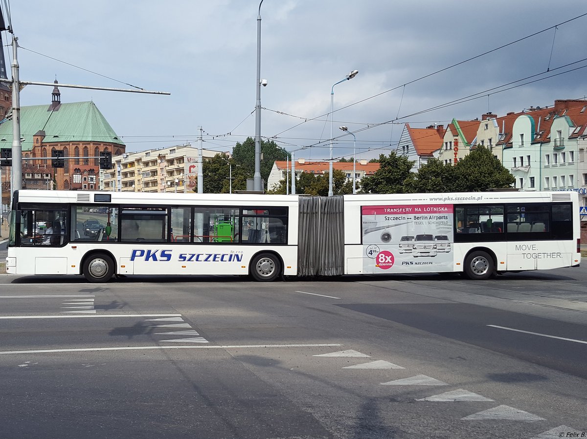
[[[361,180],[361,193],[404,193],[413,161],[395,151],[379,155],[379,169]]]

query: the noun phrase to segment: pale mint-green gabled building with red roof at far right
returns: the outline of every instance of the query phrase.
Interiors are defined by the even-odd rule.
[[[587,206],[586,113],[587,100],[556,100],[518,115],[502,159],[515,188],[573,190]]]

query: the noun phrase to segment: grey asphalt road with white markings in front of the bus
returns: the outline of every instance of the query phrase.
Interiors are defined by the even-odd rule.
[[[4,275],[0,431],[587,436],[586,287],[585,266],[481,282]]]

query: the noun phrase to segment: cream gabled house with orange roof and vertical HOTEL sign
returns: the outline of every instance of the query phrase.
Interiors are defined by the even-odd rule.
[[[462,160],[475,144],[480,120],[456,120],[453,119],[447,125],[443,136],[443,144],[438,153],[438,159],[444,164],[457,164]]]

